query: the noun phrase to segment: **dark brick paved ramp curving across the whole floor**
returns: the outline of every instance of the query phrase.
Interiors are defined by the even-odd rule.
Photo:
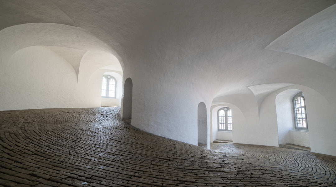
[[[335,157],[232,143],[204,149],[138,131],[119,112],[0,112],[0,186],[336,185]]]

